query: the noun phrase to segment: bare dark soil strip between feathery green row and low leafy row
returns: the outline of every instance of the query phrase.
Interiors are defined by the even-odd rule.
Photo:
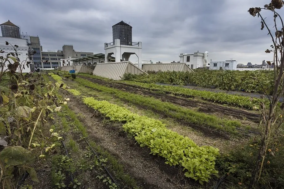
[[[235,108],[230,108],[230,107],[225,107],[225,106],[220,106],[220,105],[215,105],[212,103],[207,103],[207,102],[200,102],[200,101],[194,101],[191,99],[185,99],[185,98],[180,98],[180,97],[176,97],[176,96],[169,96],[169,95],[163,95],[163,94],[159,94],[159,93],[153,93],[150,91],[147,91],[143,88],[139,88],[139,87],[134,87],[128,84],[115,84],[115,83],[110,83],[110,82],[106,82],[103,80],[98,80],[98,79],[93,79],[93,78],[89,78],[89,77],[85,77],[85,76],[79,76],[82,77],[86,80],[90,80],[94,83],[98,83],[98,84],[102,84],[105,86],[109,86],[112,88],[117,88],[120,90],[124,90],[127,92],[132,92],[132,93],[136,93],[136,94],[140,94],[140,95],[145,95],[145,96],[150,96],[150,97],[155,97],[157,99],[161,99],[162,101],[167,101],[167,102],[171,102],[173,104],[177,104],[183,107],[194,107],[194,108],[198,108],[198,111],[203,112],[203,113],[221,113],[223,115],[228,115],[228,116],[232,116],[235,117],[237,119],[243,119],[244,117],[250,121],[254,121],[254,122],[259,122],[260,120],[260,114],[256,114],[256,113],[251,113],[248,111],[244,111],[244,110],[240,110],[240,109],[235,109]]]

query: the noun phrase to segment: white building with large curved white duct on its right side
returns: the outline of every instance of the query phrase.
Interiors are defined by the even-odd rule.
[[[180,54],[180,62],[186,63],[191,69],[209,67],[207,60],[208,53],[208,51],[205,51],[204,53]]]

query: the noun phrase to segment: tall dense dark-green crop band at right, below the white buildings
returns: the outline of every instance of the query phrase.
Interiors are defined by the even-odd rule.
[[[196,84],[200,87],[214,86],[223,90],[244,90],[246,92],[272,94],[274,72],[267,70],[194,70],[194,72],[159,72],[149,75],[125,74],[124,80],[142,83]]]

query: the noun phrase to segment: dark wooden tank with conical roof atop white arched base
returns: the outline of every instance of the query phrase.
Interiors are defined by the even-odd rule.
[[[112,39],[120,39],[121,45],[132,45],[132,26],[121,21],[112,26]]]

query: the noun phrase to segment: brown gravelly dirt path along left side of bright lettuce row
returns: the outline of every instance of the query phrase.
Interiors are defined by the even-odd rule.
[[[166,189],[198,186],[184,177],[181,167],[165,164],[163,158],[149,154],[148,148],[141,148],[136,144],[133,137],[128,137],[123,131],[122,123],[105,120],[98,112],[85,105],[80,97],[69,97],[69,108],[77,114],[84,114],[80,121],[86,125],[90,138],[125,165],[126,172],[135,177],[141,187]]]

